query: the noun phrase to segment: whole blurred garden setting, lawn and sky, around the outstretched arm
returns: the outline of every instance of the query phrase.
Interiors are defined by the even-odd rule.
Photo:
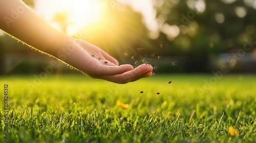
[[[124,85],[49,69],[56,59],[0,31],[10,142],[256,140],[255,0],[24,2],[120,64],[155,69]]]

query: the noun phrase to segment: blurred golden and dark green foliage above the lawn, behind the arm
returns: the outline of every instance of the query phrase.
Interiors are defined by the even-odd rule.
[[[160,73],[209,73],[219,70],[222,65],[227,65],[230,72],[256,71],[255,1],[153,1],[157,32],[147,29],[140,12],[118,2],[123,1],[109,1],[100,21],[84,27],[73,36],[101,47],[121,64],[133,64],[129,58],[123,57],[124,51],[137,55],[138,60],[146,57],[149,63],[161,67]],[[34,5],[33,1],[26,3],[31,7]],[[69,23],[65,13],[57,13],[52,20],[59,22],[62,31],[66,32]],[[230,65],[227,57],[243,49],[247,41],[254,42],[251,49],[241,60],[234,59],[236,63]],[[159,48],[159,42],[164,44],[163,49]],[[2,74],[37,73],[42,70],[42,65],[53,60],[35,54],[9,36],[0,37],[0,46]],[[145,48],[142,53],[137,51],[138,46]],[[152,52],[161,55],[162,59],[150,57]],[[41,59],[46,62],[40,62]],[[169,68],[173,60],[178,61],[177,68]],[[76,73],[65,66],[54,72]]]

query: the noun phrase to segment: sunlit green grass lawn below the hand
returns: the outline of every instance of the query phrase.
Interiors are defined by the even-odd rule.
[[[51,76],[32,90],[33,76],[2,77],[9,136],[1,106],[0,142],[256,142],[256,76],[224,75],[199,94],[211,76],[156,75],[124,85]]]

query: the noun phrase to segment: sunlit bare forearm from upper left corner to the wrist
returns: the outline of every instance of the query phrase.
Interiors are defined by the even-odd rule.
[[[71,39],[52,28],[19,0],[0,0],[0,29],[42,52],[57,57],[60,43]]]

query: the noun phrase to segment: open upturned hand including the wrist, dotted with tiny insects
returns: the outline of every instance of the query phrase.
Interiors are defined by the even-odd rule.
[[[74,39],[70,44],[73,44],[67,49],[70,54],[67,54],[67,58],[60,59],[92,78],[122,84],[152,76],[153,68],[149,64],[142,64],[135,69],[130,64],[119,66],[115,58],[87,41]]]

